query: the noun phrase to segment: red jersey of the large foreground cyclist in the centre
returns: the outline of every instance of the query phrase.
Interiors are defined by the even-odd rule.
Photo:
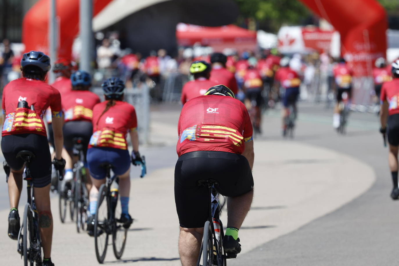
[[[247,108],[239,100],[206,95],[184,104],[178,135],[178,156],[207,150],[242,154],[245,142],[252,140],[252,124]]]

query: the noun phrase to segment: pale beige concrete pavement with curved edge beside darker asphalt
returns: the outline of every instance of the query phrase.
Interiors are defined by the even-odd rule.
[[[178,114],[178,111],[170,112],[168,117],[177,121]],[[151,140],[175,145],[176,125],[162,122],[161,111],[157,111],[156,116],[151,125],[154,132]],[[158,160],[164,156],[176,154],[160,153]],[[174,166],[170,165],[144,179],[132,179],[130,213],[136,220],[128,233],[122,260],[115,260],[111,245],[106,264],[180,265],[173,175]],[[366,191],[375,179],[371,167],[350,156],[294,141],[267,140],[255,140],[253,176],[255,198],[239,233],[243,253],[334,211]],[[60,223],[57,197],[51,204],[55,264],[97,265],[94,239],[85,233],[77,234],[75,223],[69,220],[64,225]],[[8,211],[0,211],[4,221],[0,224],[3,235],[0,250],[8,254],[2,264],[22,264],[16,241],[6,237],[7,215]],[[227,222],[225,212],[222,220]]]

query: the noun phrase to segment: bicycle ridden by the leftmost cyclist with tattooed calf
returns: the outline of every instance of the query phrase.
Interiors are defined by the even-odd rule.
[[[30,174],[30,161],[35,158],[33,152],[23,150],[18,152],[17,158],[21,158],[25,162],[25,177],[28,191],[28,203],[25,205],[24,217],[22,220],[22,227],[18,233],[17,250],[21,256],[24,257],[24,265],[27,266],[28,262],[31,266],[42,265],[41,262],[41,238],[39,231],[39,215],[36,210],[35,198],[32,191],[32,176]],[[59,180],[61,181],[63,176],[59,171]]]

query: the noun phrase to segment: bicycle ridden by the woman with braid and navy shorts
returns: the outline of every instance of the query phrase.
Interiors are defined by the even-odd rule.
[[[128,231],[128,228],[123,227],[119,219],[115,218],[122,213],[120,201],[118,200],[119,188],[117,185],[119,184],[119,178],[117,175],[111,177],[112,166],[110,164],[105,164],[103,167],[107,172],[107,181],[99,189],[94,223],[94,245],[99,263],[104,262],[110,234],[112,234],[112,246],[115,258],[119,260],[122,257]],[[116,186],[111,188],[114,181]]]

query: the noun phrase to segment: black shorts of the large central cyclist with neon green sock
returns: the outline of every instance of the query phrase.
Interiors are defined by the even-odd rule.
[[[214,179],[217,191],[237,197],[253,189],[248,160],[230,152],[199,151],[179,157],[175,168],[175,202],[181,227],[201,228],[208,218],[209,194],[198,180]]]

